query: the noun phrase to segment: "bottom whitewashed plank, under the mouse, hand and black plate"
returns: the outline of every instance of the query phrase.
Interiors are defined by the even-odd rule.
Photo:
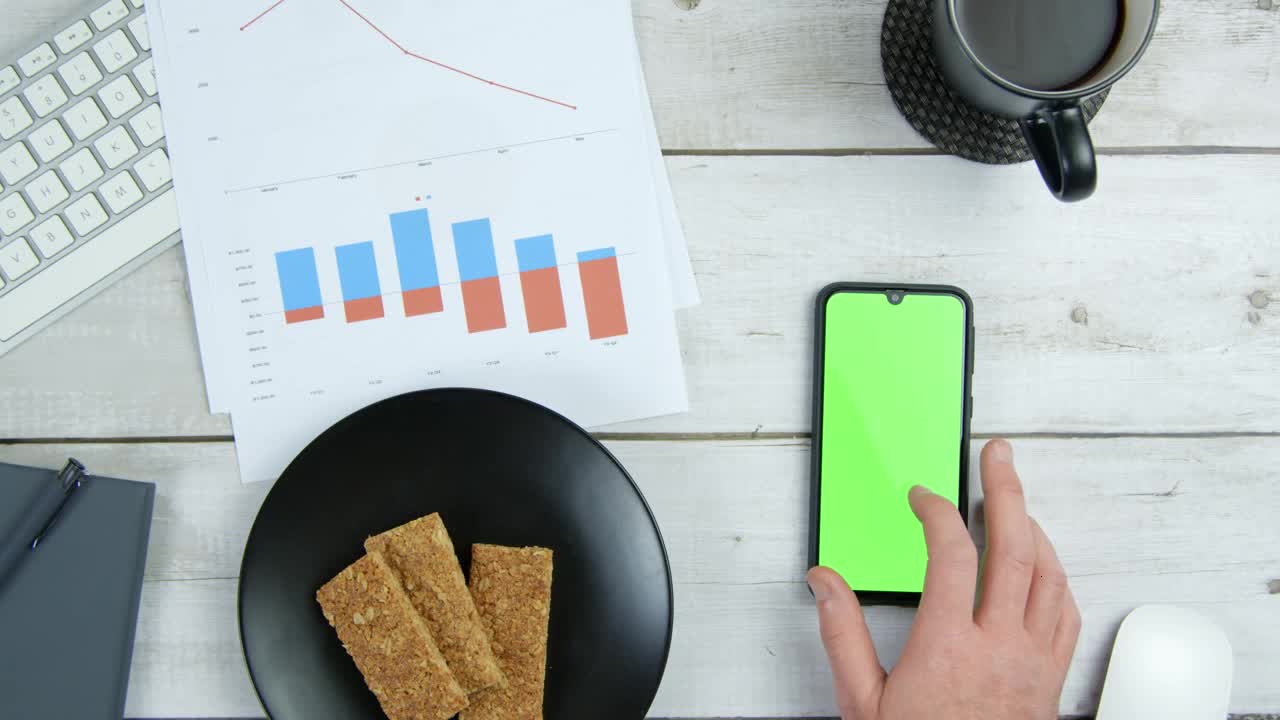
[[[801,580],[808,443],[609,448],[653,506],[676,582],[675,644],[653,714],[832,715]],[[1222,624],[1236,653],[1233,711],[1280,711],[1280,442],[1037,439],[1016,451],[1032,512],[1053,537],[1085,618],[1064,714],[1093,711],[1114,633],[1143,603],[1193,607]],[[264,488],[238,484],[227,443],[0,447],[5,461],[50,468],[67,455],[159,483],[129,716],[255,716],[234,593]],[[974,532],[980,537],[980,521]],[[870,616],[892,662],[910,612]]]

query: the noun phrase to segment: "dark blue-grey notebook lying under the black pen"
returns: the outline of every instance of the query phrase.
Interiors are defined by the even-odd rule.
[[[0,542],[56,475],[0,462]],[[154,502],[151,483],[90,473],[0,585],[0,717],[124,716]]]

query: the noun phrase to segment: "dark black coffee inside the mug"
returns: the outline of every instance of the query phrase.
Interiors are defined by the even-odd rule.
[[[992,72],[1027,88],[1064,90],[1107,59],[1124,0],[956,0],[956,18]]]

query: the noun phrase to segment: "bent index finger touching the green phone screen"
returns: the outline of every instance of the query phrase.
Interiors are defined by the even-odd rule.
[[[973,623],[973,591],[978,582],[978,550],[955,505],[915,486],[909,496],[911,511],[924,527],[929,566],[919,618],[950,623]]]

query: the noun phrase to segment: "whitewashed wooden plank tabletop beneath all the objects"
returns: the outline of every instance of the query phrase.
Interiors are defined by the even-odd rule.
[[[0,0],[0,54],[81,5]],[[837,279],[974,296],[974,432],[1015,438],[1084,612],[1064,715],[1148,602],[1221,623],[1233,712],[1280,712],[1280,1],[1167,0],[1075,206],[1030,165],[928,150],[884,90],[882,12],[635,3],[704,297],[680,315],[692,411],[604,433],[675,571],[653,715],[835,712],[803,574],[810,307]],[[184,286],[168,252],[0,359],[0,460],[157,483],[128,715],[259,717],[234,596],[268,488],[205,409]],[[870,612],[882,655],[910,620]]]

